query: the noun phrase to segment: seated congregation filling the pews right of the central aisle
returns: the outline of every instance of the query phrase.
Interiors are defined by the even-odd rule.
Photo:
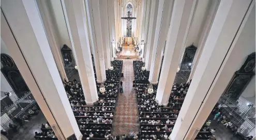
[[[168,139],[175,125],[178,113],[187,94],[189,83],[173,84],[167,107],[155,101],[157,84],[153,93],[148,92],[149,71],[142,70],[142,61],[133,61],[134,90],[137,94],[140,139]]]

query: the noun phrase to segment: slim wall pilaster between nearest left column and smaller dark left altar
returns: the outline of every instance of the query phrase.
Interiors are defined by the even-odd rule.
[[[59,47],[56,43],[56,33],[54,32],[54,25],[53,25],[53,20],[52,17],[50,15],[50,11],[49,11],[49,6],[47,5],[47,1],[38,1],[38,8],[41,11],[41,17],[42,17],[42,21],[43,21],[43,25],[44,25],[44,29],[46,30],[46,34],[47,34],[47,39],[49,42],[49,45],[51,47],[51,51],[53,54],[53,58],[55,60],[55,63],[57,65],[58,71],[62,76],[62,80],[64,81],[64,79],[66,79],[68,81],[65,69],[64,69],[64,65],[63,65],[63,58],[62,58],[62,54],[59,53]]]

